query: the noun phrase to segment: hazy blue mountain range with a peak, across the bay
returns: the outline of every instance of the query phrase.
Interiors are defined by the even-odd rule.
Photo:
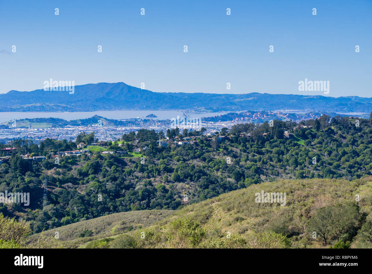
[[[152,92],[119,83],[98,83],[68,91],[9,91],[0,94],[0,111],[186,110],[244,111],[300,110],[369,113],[372,98],[291,94],[210,94]]]

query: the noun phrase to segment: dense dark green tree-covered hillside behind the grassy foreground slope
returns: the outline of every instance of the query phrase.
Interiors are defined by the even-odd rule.
[[[285,137],[284,133],[290,134]],[[250,133],[250,136],[248,135]],[[148,147],[140,154],[64,155],[58,151],[89,146],[94,134],[82,133],[76,142],[46,139],[40,145],[18,139],[0,148],[15,147],[0,164],[0,192],[30,193],[28,207],[0,204],[4,216],[30,221],[33,233],[115,212],[177,210],[231,190],[275,179],[343,178],[371,175],[371,119],[322,116],[301,123],[279,120],[224,128],[213,137],[179,129],[131,132],[116,142],[99,142],[105,150]],[[177,146],[174,140],[200,136],[194,144]],[[226,138],[218,137],[226,136]],[[169,144],[158,140],[168,137]],[[119,144],[122,143],[122,147]],[[1,150],[2,155],[6,152]],[[46,156],[36,162],[26,154]],[[44,180],[48,182],[43,207]],[[187,199],[185,199],[187,197]]]

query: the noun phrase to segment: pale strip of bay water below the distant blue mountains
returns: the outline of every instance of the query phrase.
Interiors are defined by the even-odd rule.
[[[210,113],[187,113],[189,117],[209,117],[224,114],[226,112],[210,112]],[[155,114],[157,118],[166,120],[177,118],[177,115],[183,117],[183,111],[176,110],[112,110],[112,111],[86,111],[86,112],[0,112],[0,123],[10,120],[19,120],[26,118],[62,118],[65,120],[85,119],[94,115],[102,116],[108,119],[130,119],[140,117],[143,119],[148,114]]]

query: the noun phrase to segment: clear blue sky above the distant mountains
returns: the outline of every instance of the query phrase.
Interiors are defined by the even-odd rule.
[[[372,97],[372,0],[0,1],[0,25],[0,93],[52,78],[324,95],[298,90],[308,78],[330,81],[324,96]]]

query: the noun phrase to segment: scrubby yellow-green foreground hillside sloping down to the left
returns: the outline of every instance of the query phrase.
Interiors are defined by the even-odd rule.
[[[262,190],[264,192],[285,192],[285,205],[256,203],[255,193],[261,193]],[[356,202],[356,195],[360,198],[358,202]],[[340,205],[341,210],[342,208],[355,209],[357,215],[350,215],[355,217],[355,220],[347,228],[342,227],[341,224],[337,231],[338,234],[329,236],[327,245],[323,244],[320,236],[315,240],[312,239],[312,233],[308,231],[311,218],[317,216],[321,209],[334,208],[337,205]],[[118,242],[122,242],[123,239],[125,239],[124,242],[128,239],[137,241],[140,244],[137,247],[174,247],[175,238],[172,238],[172,233],[177,233],[174,230],[175,225],[178,225],[177,229],[180,232],[185,229],[185,227],[179,227],[180,223],[174,223],[181,219],[187,220],[190,227],[194,227],[195,230],[192,233],[199,233],[199,236],[193,234],[193,237],[199,239],[198,244],[188,247],[221,247],[226,244],[228,233],[231,234],[230,239],[235,241],[232,247],[240,247],[239,241],[247,243],[241,247],[249,247],[247,246],[249,242],[253,243],[257,239],[258,242],[263,239],[267,241],[279,239],[280,242],[283,240],[280,234],[286,236],[292,248],[330,247],[340,241],[351,242],[353,248],[372,247],[371,242],[368,242],[365,237],[365,232],[368,233],[367,224],[370,224],[372,220],[371,177],[351,182],[342,179],[264,182],[224,193],[197,204],[190,204],[173,212],[171,214],[172,211],[146,210],[117,213],[52,229],[47,233],[54,235],[54,232],[58,231],[61,235],[60,241],[68,240],[67,246],[75,247],[92,240],[93,242],[83,247],[94,247],[97,243],[104,243],[105,247],[118,247]],[[351,220],[350,216],[348,215],[348,218]],[[110,224],[105,225],[105,222]],[[129,225],[133,226],[133,230],[126,229]],[[333,223],[333,226],[336,225]],[[78,234],[85,229],[98,232],[97,237],[78,238]],[[141,232],[152,233],[151,239],[154,242],[147,243],[149,246],[141,246],[141,243],[145,242],[140,239]],[[369,232],[372,233],[372,231]],[[118,234],[121,236],[117,236]],[[38,234],[33,235],[31,239],[36,237]],[[102,239],[98,240],[99,238]],[[180,241],[179,238],[176,237],[176,239]],[[170,243],[172,240],[173,242]]]

